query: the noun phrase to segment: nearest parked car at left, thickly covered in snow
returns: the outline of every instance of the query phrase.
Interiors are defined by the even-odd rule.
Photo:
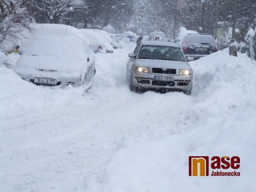
[[[22,79],[42,86],[93,86],[95,61],[85,40],[76,36],[39,36],[13,67]]]

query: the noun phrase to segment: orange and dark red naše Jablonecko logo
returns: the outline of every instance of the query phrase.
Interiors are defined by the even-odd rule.
[[[189,156],[189,176],[209,176],[209,168],[211,167],[211,176],[240,176],[240,172],[235,170],[240,168],[240,158],[234,157],[211,157],[209,156]],[[233,172],[225,172],[228,169]]]

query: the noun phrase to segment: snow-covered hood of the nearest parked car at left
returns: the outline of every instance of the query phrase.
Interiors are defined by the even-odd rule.
[[[87,68],[88,62],[85,58],[22,55],[13,70],[25,76],[69,78],[80,77]]]

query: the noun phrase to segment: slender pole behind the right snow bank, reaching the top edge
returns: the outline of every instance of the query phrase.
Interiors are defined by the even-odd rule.
[[[232,55],[232,56],[237,56],[237,47],[235,44],[235,42],[236,42],[236,20],[237,20],[236,14],[237,14],[237,0],[233,0],[232,39],[231,39],[231,44],[229,46],[229,55]]]

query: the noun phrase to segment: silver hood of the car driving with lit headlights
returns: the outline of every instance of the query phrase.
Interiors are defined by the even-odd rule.
[[[136,60],[138,67],[191,69],[186,61]]]

